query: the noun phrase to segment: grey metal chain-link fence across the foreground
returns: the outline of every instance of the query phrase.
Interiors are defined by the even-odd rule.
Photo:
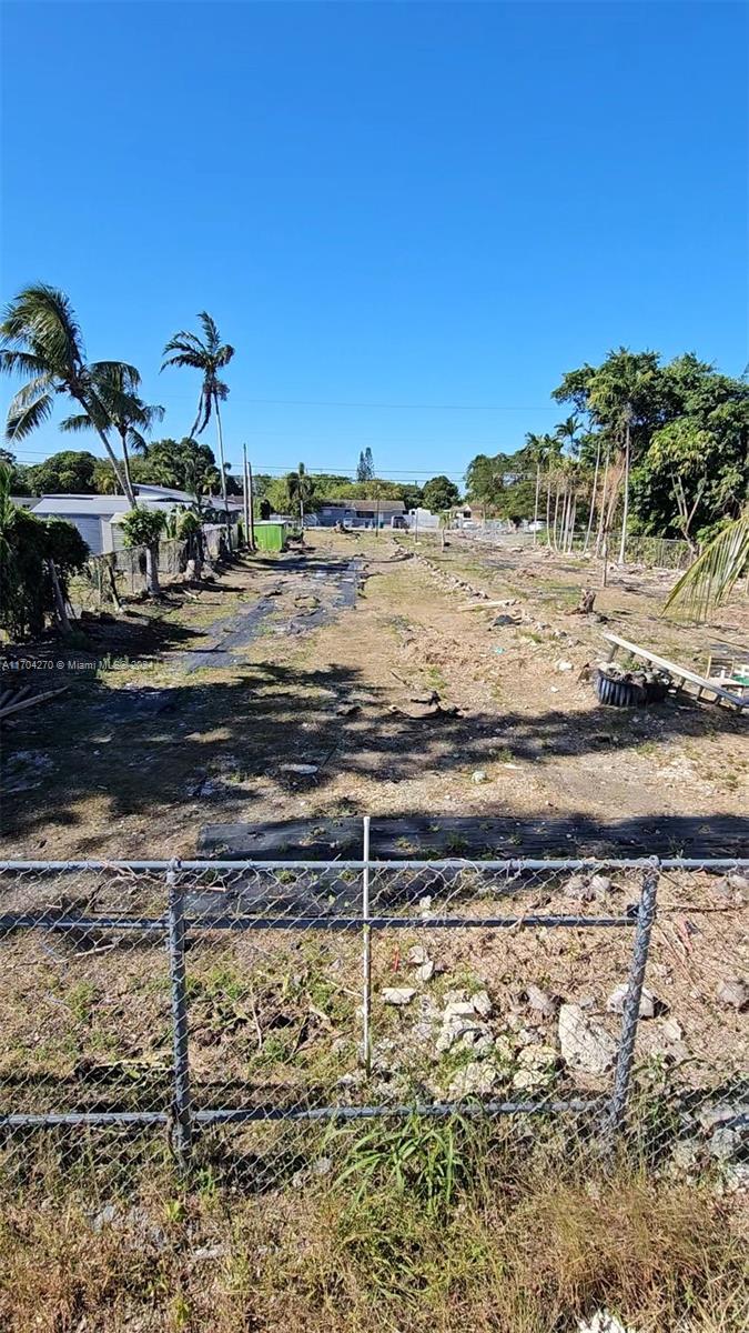
[[[260,1189],[413,1114],[746,1170],[749,861],[377,862],[364,838],[0,862],[5,1180]]]

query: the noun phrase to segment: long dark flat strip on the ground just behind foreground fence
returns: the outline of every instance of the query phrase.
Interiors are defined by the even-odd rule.
[[[227,861],[361,860],[361,818],[284,820],[275,824],[209,824],[197,854]],[[371,857],[381,861],[561,857],[746,856],[749,820],[652,816],[600,824],[589,816],[484,818],[373,816]]]

